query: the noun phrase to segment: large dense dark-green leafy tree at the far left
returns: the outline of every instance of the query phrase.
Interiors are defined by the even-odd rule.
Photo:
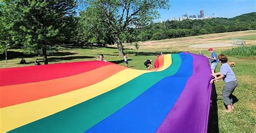
[[[8,27],[5,42],[25,46],[25,53],[43,55],[44,64],[48,64],[48,53],[58,50],[71,32],[76,2],[5,1],[2,5],[2,19]]]

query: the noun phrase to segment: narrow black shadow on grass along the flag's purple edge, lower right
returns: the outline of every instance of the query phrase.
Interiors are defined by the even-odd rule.
[[[214,83],[212,84],[211,101],[207,132],[219,132],[217,92]]]

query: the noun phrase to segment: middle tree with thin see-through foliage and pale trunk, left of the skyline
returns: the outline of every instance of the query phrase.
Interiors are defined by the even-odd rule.
[[[91,36],[91,39],[97,40],[97,43],[116,42],[119,56],[124,55],[121,37],[123,33],[130,32],[133,28],[149,25],[159,16],[156,9],[169,7],[168,1],[125,0],[86,1],[85,3],[86,9],[80,13],[82,19],[80,24],[87,29],[85,38]]]

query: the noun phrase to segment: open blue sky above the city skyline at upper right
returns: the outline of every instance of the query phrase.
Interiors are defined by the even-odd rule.
[[[233,18],[244,13],[256,12],[256,0],[170,0],[169,10],[159,9],[161,20],[181,17],[189,11],[189,15],[200,14],[204,10],[207,17],[214,13],[216,17]]]

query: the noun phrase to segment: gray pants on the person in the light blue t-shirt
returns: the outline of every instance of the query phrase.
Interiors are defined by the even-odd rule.
[[[233,92],[235,87],[237,87],[237,80],[227,82],[223,86],[222,95],[225,105],[231,105],[233,103]]]

